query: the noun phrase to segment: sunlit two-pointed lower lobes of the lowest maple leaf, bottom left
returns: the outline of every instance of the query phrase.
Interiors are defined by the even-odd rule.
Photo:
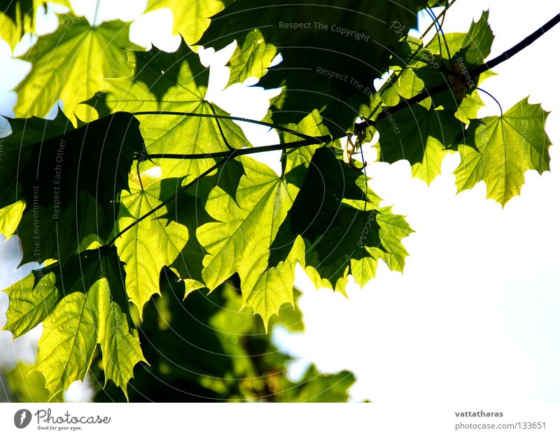
[[[126,394],[134,366],[145,360],[125,316],[110,296],[109,284],[100,279],[87,294],[64,297],[43,322],[44,334],[31,371],[43,374],[51,397],[83,380],[98,343],[106,379],[112,379]]]

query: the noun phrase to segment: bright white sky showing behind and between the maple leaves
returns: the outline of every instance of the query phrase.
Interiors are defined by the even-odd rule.
[[[73,1],[77,13],[91,21],[95,1]],[[102,1],[99,20],[130,20],[144,10],[146,1]],[[555,1],[457,0],[444,22],[444,32],[465,32],[472,20],[490,9],[489,22],[496,35],[490,59],[519,42],[556,13]],[[56,24],[48,14],[45,32]],[[420,32],[429,20],[421,17]],[[167,50],[179,44],[171,35],[168,10],[144,15],[131,29],[135,43],[150,41]],[[531,95],[529,102],[552,111],[547,133],[560,144],[560,62],[556,41],[560,26],[493,71],[498,76],[482,88],[498,99],[504,111]],[[262,118],[268,99],[275,94],[260,88],[234,85],[223,90],[228,69],[223,67],[233,46],[212,55],[209,95],[237,116]],[[23,50],[23,49],[22,49]],[[22,61],[9,60],[10,50],[0,41],[0,113],[10,115],[15,103],[11,90],[26,74]],[[3,96],[3,97],[2,97]],[[488,106],[479,116],[499,113]],[[239,103],[241,102],[241,104]],[[13,115],[13,114],[11,114]],[[0,132],[2,129],[0,119]],[[247,132],[255,145],[274,144],[274,133],[255,128]],[[358,381],[353,399],[387,401],[446,401],[476,405],[477,401],[560,401],[560,177],[557,146],[550,148],[552,172],[527,172],[521,196],[505,208],[486,200],[485,187],[456,195],[453,156],[444,161],[442,176],[430,185],[411,179],[407,162],[374,163],[368,175],[374,190],[404,214],[416,233],[408,237],[404,275],[379,265],[376,279],[365,289],[349,286],[349,298],[316,291],[300,274],[297,286],[305,332],[274,332],[276,343],[299,359],[293,374],[313,361],[324,372],[351,370]],[[254,155],[253,155],[254,156]],[[267,162],[274,162],[268,155]],[[274,164],[271,164],[274,166]],[[1,237],[0,237],[1,238]],[[15,263],[8,254],[15,239],[0,243],[0,287],[13,282]],[[10,250],[11,247],[11,250]],[[5,261],[3,261],[5,260]],[[8,261],[11,261],[8,263]],[[28,270],[27,270],[28,271]],[[18,272],[21,275],[21,272]],[[6,295],[0,293],[0,326],[5,322]],[[6,351],[27,354],[38,331],[13,346],[0,333],[0,366]],[[76,395],[80,398],[80,394]]]

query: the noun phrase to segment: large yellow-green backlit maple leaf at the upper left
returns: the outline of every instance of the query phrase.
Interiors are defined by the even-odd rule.
[[[112,21],[91,27],[85,18],[72,14],[60,19],[66,25],[40,36],[20,57],[33,68],[16,88],[18,117],[44,117],[62,99],[62,111],[72,123],[77,123],[76,116],[93,120],[94,111],[80,104],[101,88],[102,78],[130,74],[123,50],[135,47],[128,40],[129,25]]]

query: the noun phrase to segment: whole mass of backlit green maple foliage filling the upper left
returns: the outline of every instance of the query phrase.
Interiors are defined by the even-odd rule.
[[[0,35],[15,46],[43,6],[11,4]],[[109,398],[122,396],[118,387],[127,398],[169,399],[165,387],[141,393],[155,381],[187,387],[171,395],[179,400],[345,396],[348,373],[311,368],[299,385],[280,377],[286,356],[265,339],[279,321],[300,326],[298,263],[340,293],[349,277],[365,285],[379,261],[405,267],[412,229],[372,192],[360,144],[379,133],[379,160],[408,160],[428,183],[458,151],[458,190],[484,181],[501,204],[526,170],[549,168],[540,105],[524,99],[477,118],[478,85],[491,74],[488,11],[463,34],[408,36],[432,6],[449,4],[153,0],[147,11],[174,13],[173,53],[134,46],[130,23],[92,26],[72,11],[38,37],[20,56],[32,69],[2,142],[0,233],[20,237],[22,263],[41,264],[6,289],[4,329],[18,337],[43,323],[28,370],[44,377],[46,399],[88,372],[114,384],[102,391]],[[207,99],[196,48],[234,40],[229,84],[252,77],[281,88],[265,119],[251,120],[280,144],[253,147],[243,120]],[[282,151],[280,174],[251,156],[272,150]],[[276,359],[251,358],[259,354]]]

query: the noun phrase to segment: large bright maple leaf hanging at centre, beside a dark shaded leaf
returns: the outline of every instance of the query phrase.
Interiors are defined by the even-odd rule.
[[[266,324],[282,303],[292,301],[292,286],[286,289],[283,275],[285,266],[267,268],[269,248],[295,200],[297,187],[251,158],[242,158],[242,162],[245,175],[235,200],[219,187],[212,190],[206,210],[217,221],[197,229],[197,240],[207,251],[202,277],[212,291],[238,272],[244,304],[253,307]],[[292,260],[286,263],[293,277],[295,265]],[[275,283],[272,290],[267,281]],[[256,297],[259,293],[264,296]]]

